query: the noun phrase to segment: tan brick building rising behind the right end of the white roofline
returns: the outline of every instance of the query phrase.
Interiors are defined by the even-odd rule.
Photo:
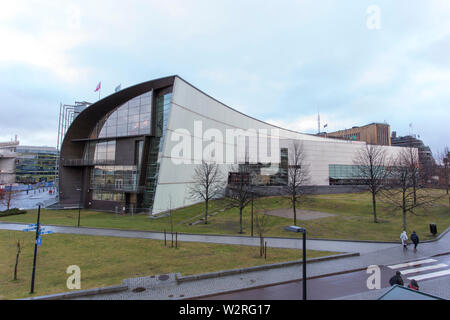
[[[371,123],[362,127],[353,127],[335,132],[324,132],[319,135],[345,140],[365,141],[369,144],[381,146],[391,145],[390,126],[386,123]]]

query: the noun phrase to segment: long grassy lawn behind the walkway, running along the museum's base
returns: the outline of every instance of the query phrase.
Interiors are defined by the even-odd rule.
[[[443,191],[437,191],[443,194]],[[224,207],[224,201],[214,201],[212,211]],[[402,229],[401,212],[391,210],[378,201],[379,223],[373,223],[371,196],[369,193],[334,194],[308,196],[301,209],[322,211],[336,216],[317,220],[299,221],[298,224],[308,230],[308,237],[334,238],[351,240],[380,240],[397,241]],[[267,197],[255,200],[255,211],[277,208],[289,208],[289,199],[283,197]],[[174,231],[184,233],[201,234],[233,234],[239,235],[239,211],[236,208],[226,210],[208,218],[208,224],[190,226],[183,223],[195,216],[201,217],[203,205],[197,204],[191,207],[173,211]],[[42,210],[42,223],[54,225],[77,225],[77,210],[53,211]],[[244,235],[250,235],[251,219],[250,206],[244,210]],[[195,221],[197,219],[194,219]],[[0,218],[0,221],[11,222],[36,222],[36,211],[32,210],[25,215],[8,216]],[[416,214],[408,214],[408,232],[417,231],[422,240],[432,239],[429,233],[429,224],[434,222],[438,226],[438,232],[444,231],[450,226],[450,211],[448,199],[442,198],[432,208],[418,210]],[[298,237],[287,232],[284,227],[291,225],[292,219],[273,217],[269,218],[266,236]],[[135,229],[164,231],[170,230],[170,219],[150,219],[147,215],[118,216],[112,213],[83,210],[81,225],[85,227]],[[256,231],[255,231],[256,234]]]

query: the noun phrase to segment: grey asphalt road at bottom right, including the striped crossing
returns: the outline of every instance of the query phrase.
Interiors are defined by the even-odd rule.
[[[397,270],[405,273],[402,274],[405,286],[410,283],[408,278],[424,277],[423,280],[418,281],[420,286],[422,281],[438,278],[434,276],[437,272],[443,274],[440,277],[450,277],[450,255],[435,257],[431,260],[421,259],[416,261],[417,264],[413,262],[413,265],[410,266],[403,263],[401,265],[380,266],[381,288],[390,286],[389,279],[395,275]],[[307,298],[308,300],[329,300],[366,292],[369,290],[367,288],[367,279],[370,275],[364,270],[310,279],[307,281]],[[295,281],[258,289],[219,294],[200,298],[199,300],[300,300],[303,297],[302,288],[302,282]]]

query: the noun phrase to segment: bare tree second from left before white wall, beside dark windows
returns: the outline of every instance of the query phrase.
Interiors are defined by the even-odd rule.
[[[252,201],[250,170],[248,165],[240,164],[231,174],[226,197],[232,206],[239,208],[239,233],[244,233],[242,228],[242,214],[245,207]]]

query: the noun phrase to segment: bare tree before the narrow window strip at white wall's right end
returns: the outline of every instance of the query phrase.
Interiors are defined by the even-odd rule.
[[[385,186],[388,174],[386,149],[366,144],[357,152],[353,163],[357,167],[361,182],[372,194],[373,222],[377,223],[377,195]]]

